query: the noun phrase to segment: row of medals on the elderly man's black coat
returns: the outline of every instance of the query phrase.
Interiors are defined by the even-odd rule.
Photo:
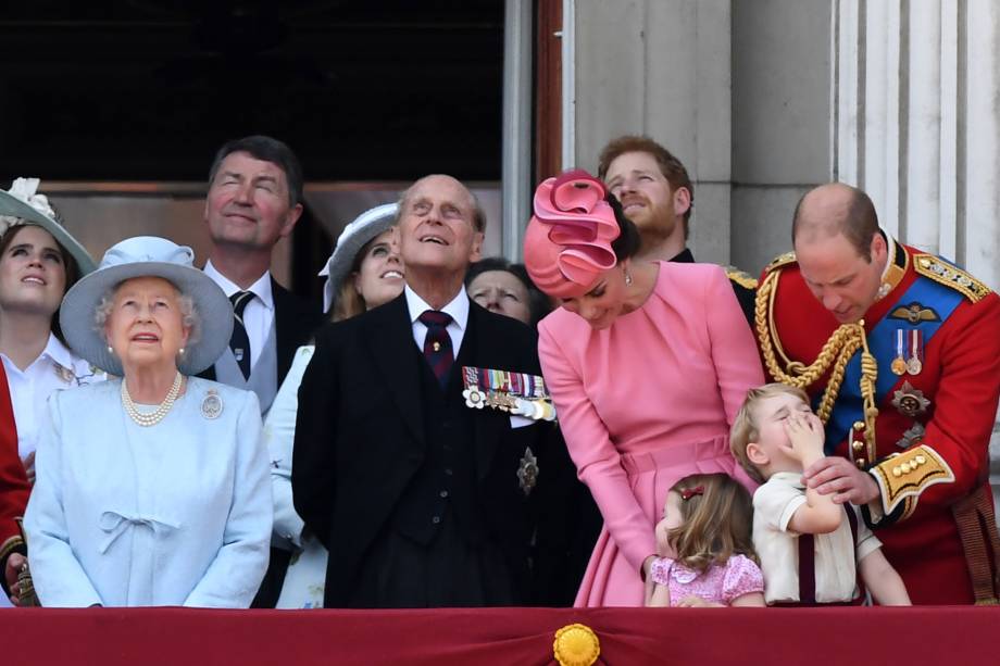
[[[538,375],[463,366],[462,398],[474,410],[490,407],[535,420],[555,420],[555,407]]]

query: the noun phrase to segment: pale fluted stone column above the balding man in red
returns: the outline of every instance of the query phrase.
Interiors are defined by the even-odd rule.
[[[835,179],[903,242],[1000,289],[1000,7],[834,0],[833,26]],[[997,427],[990,453],[1000,494]]]

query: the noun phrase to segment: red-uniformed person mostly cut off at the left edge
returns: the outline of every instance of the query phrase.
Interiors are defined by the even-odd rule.
[[[30,486],[24,465],[17,456],[17,429],[14,409],[8,392],[7,375],[0,363],[0,583],[10,595],[10,586],[17,581],[17,569],[25,554],[21,529],[14,522],[24,515]]]

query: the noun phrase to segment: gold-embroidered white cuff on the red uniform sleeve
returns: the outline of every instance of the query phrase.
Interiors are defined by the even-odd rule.
[[[896,511],[900,502],[905,503],[901,520],[913,514],[921,493],[927,488],[935,483],[954,482],[951,467],[927,444],[887,457],[871,472],[882,491],[882,508],[886,515]]]

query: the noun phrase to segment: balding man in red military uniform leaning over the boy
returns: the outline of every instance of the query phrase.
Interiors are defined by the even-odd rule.
[[[764,271],[755,328],[767,373],[826,424],[807,485],[861,507],[915,604],[996,603],[1000,298],[882,231],[846,185],[802,198],[792,242]]]

